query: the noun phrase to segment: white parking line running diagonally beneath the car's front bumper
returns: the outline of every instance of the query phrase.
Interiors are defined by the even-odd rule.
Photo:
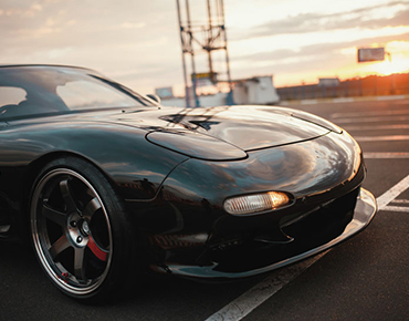
[[[379,210],[385,209],[386,206],[392,201],[402,191],[409,188],[409,175],[400,180],[392,188],[384,193],[377,198]],[[249,291],[241,294],[234,301],[210,315],[206,321],[239,321],[250,314],[260,304],[265,302],[284,286],[293,281],[313,263],[325,256],[329,250],[315,256],[308,260],[286,267],[284,269],[272,272],[269,277],[255,284]]]

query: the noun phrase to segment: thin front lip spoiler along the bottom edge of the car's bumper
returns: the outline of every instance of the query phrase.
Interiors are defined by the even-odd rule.
[[[214,268],[217,267],[217,265],[206,266],[206,267],[168,265],[166,266],[165,270],[159,267],[154,268],[154,270],[158,272],[166,271],[166,272],[170,272],[170,273],[181,276],[181,277],[192,277],[192,278],[200,278],[200,279],[234,279],[234,278],[245,278],[245,277],[261,275],[261,273],[269,272],[275,269],[280,269],[287,265],[295,263],[308,257],[315,256],[350,238],[352,236],[364,230],[369,225],[376,211],[377,211],[377,204],[376,204],[374,195],[370,191],[364,188],[360,188],[360,193],[357,198],[357,203],[356,203],[356,207],[354,211],[354,217],[352,221],[346,226],[344,232],[339,235],[338,237],[336,237],[335,239],[319,247],[311,249],[306,252],[303,252],[301,255],[287,258],[285,260],[275,262],[273,265],[270,265],[263,268],[259,268],[259,269],[254,269],[254,270],[250,270],[245,272],[216,271]]]

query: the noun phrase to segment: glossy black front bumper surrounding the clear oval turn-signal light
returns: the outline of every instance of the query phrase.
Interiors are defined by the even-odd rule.
[[[214,258],[204,258],[211,247],[245,237],[259,239],[253,249],[286,244],[289,236],[282,230],[283,224],[343,195],[355,193],[356,199],[365,177],[360,148],[346,133],[248,154],[240,162],[189,159],[169,175],[157,198],[164,206],[158,211],[146,209],[141,216],[148,234],[160,235],[154,238],[160,248],[159,260],[167,258],[168,265],[178,271],[175,262],[182,260],[180,251],[188,247],[195,259],[185,260],[185,266],[203,266],[192,273],[217,277],[211,272]],[[253,217],[234,217],[222,209],[223,200],[230,196],[268,190],[291,191],[296,201]],[[244,249],[241,255],[244,257]]]

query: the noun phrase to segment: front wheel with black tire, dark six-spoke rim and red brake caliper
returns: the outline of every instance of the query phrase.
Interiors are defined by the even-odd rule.
[[[43,167],[30,222],[40,265],[66,296],[95,303],[128,283],[135,237],[120,199],[88,162],[64,157]]]

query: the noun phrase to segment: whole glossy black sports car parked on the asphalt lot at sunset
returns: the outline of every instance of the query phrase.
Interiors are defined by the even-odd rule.
[[[376,213],[358,144],[295,110],[165,107],[91,70],[2,65],[0,131],[0,238],[31,235],[76,299],[144,269],[266,272]]]

